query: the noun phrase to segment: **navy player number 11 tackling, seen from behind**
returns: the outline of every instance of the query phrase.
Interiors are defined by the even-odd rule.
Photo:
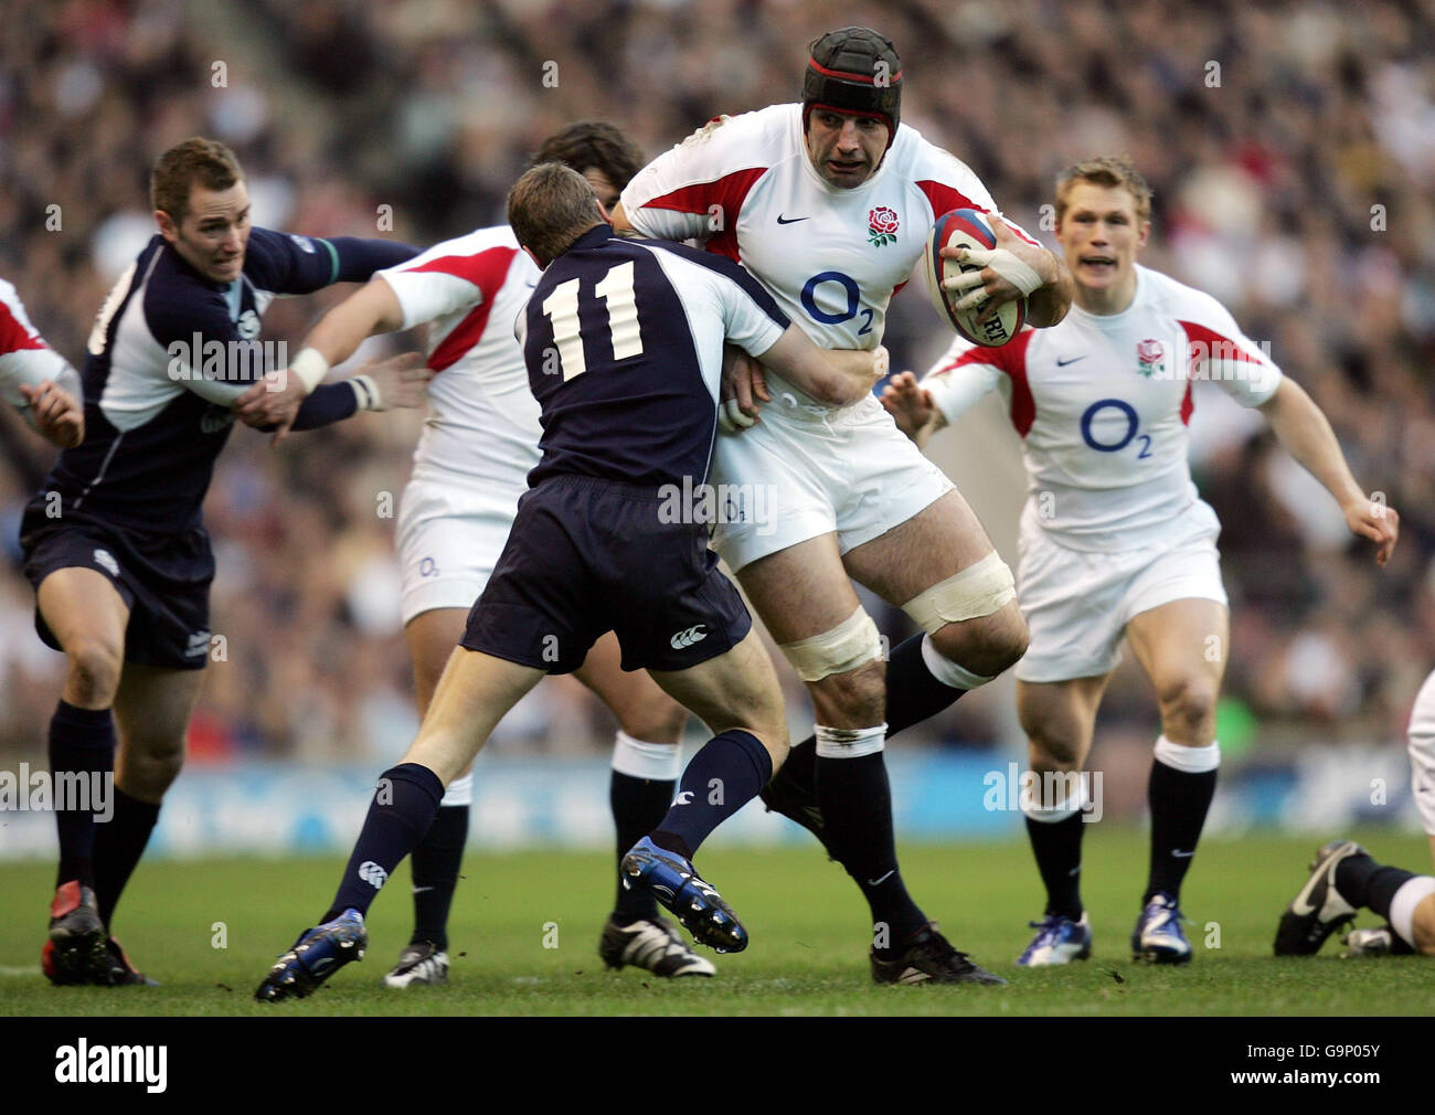
[[[428,831],[448,782],[528,690],[573,672],[607,631],[624,669],[647,669],[713,732],[623,877],[699,944],[748,943],[692,858],[781,766],[782,695],[707,548],[710,515],[697,505],[673,514],[673,492],[707,494],[725,339],[829,405],[867,395],[884,353],[822,353],[730,260],[614,237],[593,187],[560,164],[518,179],[508,221],[544,271],[517,324],[542,458],[418,738],[379,779],[329,911],[280,956],[255,993],[264,1002],[309,994],[363,957],[369,904]]]

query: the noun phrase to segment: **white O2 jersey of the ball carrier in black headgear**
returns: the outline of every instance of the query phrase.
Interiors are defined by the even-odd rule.
[[[887,303],[936,218],[957,208],[996,204],[964,162],[907,125],[871,178],[855,189],[829,185],[808,158],[801,105],[719,116],[623,191],[641,235],[700,240],[738,260],[825,349],[881,343]],[[776,413],[768,408],[763,420]]]

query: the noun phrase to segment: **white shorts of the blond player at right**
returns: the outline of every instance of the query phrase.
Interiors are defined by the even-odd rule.
[[[1032,633],[1016,664],[1022,682],[1069,682],[1109,673],[1132,616],[1172,600],[1228,603],[1215,540],[1221,524],[1197,499],[1165,537],[1139,550],[1089,552],[1055,542],[1027,502],[1022,514],[1016,600]]]

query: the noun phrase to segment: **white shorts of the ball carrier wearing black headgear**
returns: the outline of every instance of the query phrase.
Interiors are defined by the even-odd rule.
[[[772,395],[758,425],[718,438],[712,544],[735,573],[834,531],[845,554],[951,491],[875,396],[834,410]]]

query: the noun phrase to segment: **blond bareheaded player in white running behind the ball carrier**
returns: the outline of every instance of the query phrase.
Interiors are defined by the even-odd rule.
[[[1056,235],[1076,278],[1066,320],[1000,349],[954,343],[918,385],[883,402],[918,445],[999,390],[1022,436],[1027,502],[1017,593],[1032,644],[1017,712],[1042,794],[1023,795],[1046,910],[1019,964],[1091,953],[1081,900],[1083,785],[1096,709],[1126,639],[1161,706],[1148,801],[1151,867],[1131,937],[1137,957],[1184,963],[1181,881],[1215,792],[1215,699],[1230,621],[1215,512],[1191,482],[1192,379],[1258,408],[1281,446],[1339,501],[1385,564],[1399,517],[1355,482],[1330,423],[1208,294],[1141,267],[1151,191],[1124,158],[1063,172]],[[1060,778],[1048,778],[1048,775]],[[1046,794],[1046,789],[1050,794]],[[1071,789],[1072,792],[1065,792]]]

